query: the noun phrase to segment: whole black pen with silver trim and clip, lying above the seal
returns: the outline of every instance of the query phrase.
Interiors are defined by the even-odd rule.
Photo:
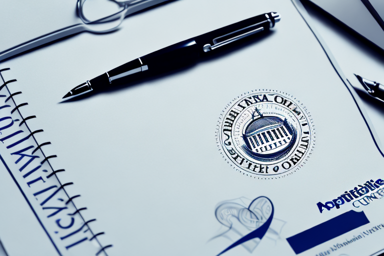
[[[69,99],[90,91],[103,91],[121,82],[191,65],[220,49],[234,45],[233,42],[237,40],[269,30],[280,18],[278,12],[268,12],[172,44],[87,80],[71,89],[63,98]]]

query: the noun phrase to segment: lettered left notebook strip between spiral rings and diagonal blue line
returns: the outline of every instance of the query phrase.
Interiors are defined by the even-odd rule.
[[[86,255],[89,252],[100,254],[111,245],[100,244],[97,236],[101,233],[92,231],[88,225],[95,219],[84,219],[81,210],[86,208],[76,207],[73,199],[80,195],[69,196],[64,189],[73,183],[62,183],[58,179],[57,173],[64,169],[54,165],[53,158],[57,155],[44,150],[51,142],[43,141],[43,136],[39,136],[43,129],[36,129],[31,122],[36,116],[21,109],[28,103],[21,102],[20,97],[17,97],[22,93],[21,88],[17,85],[11,86],[17,80],[4,79],[4,76],[12,76],[10,68],[0,69],[0,75],[0,97],[3,100],[0,107],[3,117],[0,122],[4,124],[0,128],[1,142],[10,152],[9,155],[3,153],[0,156],[2,163],[57,253],[60,254],[63,248],[74,247],[77,249],[72,252],[74,255]],[[12,142],[8,143],[9,141]],[[65,230],[66,233],[54,236],[58,229]],[[88,242],[87,246],[76,246],[85,240],[93,242]]]

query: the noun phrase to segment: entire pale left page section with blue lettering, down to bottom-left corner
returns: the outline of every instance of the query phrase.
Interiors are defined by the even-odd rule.
[[[30,108],[26,110],[28,103],[17,80],[10,79],[14,73],[9,68],[1,68],[0,72],[1,176],[2,182],[7,183],[2,187],[7,195],[2,201],[4,209],[11,203],[8,211],[1,212],[1,236],[5,237],[6,250],[12,255],[104,254],[96,232],[92,231],[91,222],[96,219],[84,219],[81,211],[86,208],[76,207],[76,195],[68,195],[67,186],[73,182],[57,178],[57,173],[64,169],[54,161],[57,156],[42,134],[43,129],[36,124],[36,116]],[[20,108],[24,110],[21,112]],[[9,184],[13,186],[7,190]],[[13,192],[14,188],[19,191]],[[14,237],[18,232],[22,233],[19,238],[26,240],[24,246]]]

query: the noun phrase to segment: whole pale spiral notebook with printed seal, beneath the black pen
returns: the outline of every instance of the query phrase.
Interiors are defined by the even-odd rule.
[[[293,3],[173,1],[0,63],[7,254],[379,254],[379,141]],[[84,79],[269,11],[281,21],[254,43],[59,103]]]

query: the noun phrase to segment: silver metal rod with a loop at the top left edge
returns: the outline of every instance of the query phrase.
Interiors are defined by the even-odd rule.
[[[106,33],[106,32],[116,30],[121,24],[125,16],[168,0],[125,0],[125,1],[110,0],[110,1],[113,1],[116,4],[118,4],[118,6],[121,7],[121,10],[117,11],[112,15],[90,21],[85,17],[83,13],[83,5],[85,0],[77,0],[76,11],[82,23],[61,28],[59,30],[44,34],[42,36],[36,37],[34,39],[31,39],[29,41],[26,41],[24,43],[21,43],[9,49],[6,49],[0,52],[0,61],[5,58],[9,58],[13,55],[22,53],[26,50],[35,48],[42,44],[60,39],[62,37],[65,37],[71,34],[83,32],[83,31],[88,31],[92,33]]]

